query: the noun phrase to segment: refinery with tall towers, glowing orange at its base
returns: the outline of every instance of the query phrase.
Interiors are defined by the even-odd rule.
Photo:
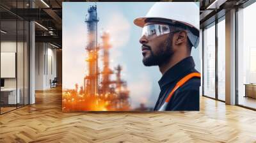
[[[93,5],[88,8],[85,21],[87,26],[86,35],[86,75],[83,75],[84,85],[78,91],[70,91],[71,96],[67,95],[65,108],[67,110],[129,110],[129,90],[127,82],[122,80],[122,66],[116,68],[109,67],[109,58],[111,44],[109,43],[110,35],[104,32],[100,36],[100,44],[97,41],[97,6]],[[99,52],[102,52],[102,61],[99,61]],[[99,63],[102,62],[102,69]],[[115,79],[111,76],[115,75]],[[71,101],[71,102],[68,102]],[[72,102],[73,101],[73,102]],[[76,103],[76,106],[73,104]]]

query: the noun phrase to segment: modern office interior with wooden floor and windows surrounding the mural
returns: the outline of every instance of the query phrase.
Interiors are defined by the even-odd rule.
[[[193,112],[62,112],[62,12],[71,2],[88,3],[0,1],[0,142],[256,142],[254,0],[196,1]]]

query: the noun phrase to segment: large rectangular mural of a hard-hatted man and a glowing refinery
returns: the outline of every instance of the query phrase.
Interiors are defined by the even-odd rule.
[[[164,2],[164,5],[166,4],[172,6],[173,3]],[[198,11],[194,21],[198,20],[199,26],[199,3],[189,4]],[[163,3],[158,2],[63,3],[63,112],[199,110],[200,75],[193,75],[193,80],[188,81],[197,85],[196,90],[186,92],[184,89],[177,89],[179,91],[174,92],[170,103],[166,102],[166,99],[176,82],[168,84],[166,89],[159,87],[160,80],[164,78],[162,75],[172,74],[168,73],[168,69],[172,67],[168,68],[168,62],[175,51],[166,48],[172,47],[172,42],[167,42],[172,36],[172,26],[180,24],[177,29],[189,33],[187,36],[190,45],[196,44],[195,37],[199,39],[199,31],[189,22],[173,23],[173,18],[168,24],[140,19],[145,15],[157,15],[156,11],[159,11],[161,6]],[[166,6],[163,10],[164,8],[168,9]],[[158,14],[164,17],[164,13]],[[141,22],[144,22],[143,26],[140,25]],[[154,40],[156,43],[153,43]],[[176,61],[180,58],[183,63],[177,62],[180,65],[175,66],[181,68],[194,58],[195,68],[200,69],[199,50],[193,48],[191,56],[193,57],[177,57]],[[164,69],[161,66],[163,64],[166,64],[167,72],[161,71]],[[195,68],[193,67],[194,70]],[[176,79],[177,82],[180,79],[182,78]],[[185,96],[184,99],[179,99],[179,92],[182,90]],[[187,94],[193,94],[191,98],[195,97],[191,101],[195,102],[193,105],[171,105],[172,100],[185,104],[186,100],[189,100],[185,98]]]

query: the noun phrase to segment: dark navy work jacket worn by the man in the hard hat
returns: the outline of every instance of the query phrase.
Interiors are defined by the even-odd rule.
[[[167,70],[159,80],[161,92],[154,110],[159,110],[167,96],[180,79],[189,73],[197,72],[193,57],[186,57]],[[198,72],[197,72],[198,73]],[[179,87],[168,102],[166,110],[199,110],[200,78],[193,77]]]

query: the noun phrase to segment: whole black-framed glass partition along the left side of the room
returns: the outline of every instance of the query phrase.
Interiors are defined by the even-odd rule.
[[[28,8],[28,1],[1,1]],[[29,22],[0,8],[0,114],[29,104]]]

